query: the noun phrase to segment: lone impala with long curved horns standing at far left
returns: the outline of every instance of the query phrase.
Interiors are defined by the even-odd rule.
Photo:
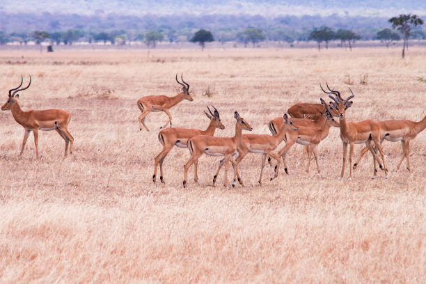
[[[31,76],[28,86],[20,88],[24,79],[21,77],[21,84],[17,88],[9,90],[8,101],[1,107],[2,111],[12,111],[12,116],[16,122],[22,125],[25,129],[24,141],[22,141],[21,152],[19,157],[22,157],[24,152],[25,143],[28,139],[30,132],[34,133],[34,144],[36,145],[36,157],[38,158],[38,130],[56,130],[59,135],[65,140],[65,157],[68,155],[68,143],[70,143],[70,154],[72,154],[72,144],[74,138],[72,138],[70,132],[68,132],[68,123],[70,123],[71,115],[68,111],[61,109],[46,109],[44,111],[22,111],[19,107],[17,92],[26,90],[31,85]],[[13,93],[12,93],[13,91]],[[16,94],[16,95],[15,95]]]

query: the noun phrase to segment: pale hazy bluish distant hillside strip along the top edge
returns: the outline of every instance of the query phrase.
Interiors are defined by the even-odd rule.
[[[297,3],[296,3],[297,2]],[[350,15],[390,17],[426,15],[425,0],[19,0],[1,1],[3,13],[69,13],[78,15]]]

